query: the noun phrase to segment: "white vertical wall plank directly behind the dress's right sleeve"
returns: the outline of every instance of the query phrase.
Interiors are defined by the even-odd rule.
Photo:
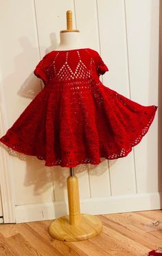
[[[100,48],[109,71],[103,76],[105,86],[130,97],[124,1],[97,1]],[[135,166],[132,152],[126,159],[109,161],[112,195],[136,192]],[[121,177],[123,179],[121,180]]]

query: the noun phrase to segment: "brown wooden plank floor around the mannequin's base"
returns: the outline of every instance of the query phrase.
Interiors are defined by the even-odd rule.
[[[80,242],[60,242],[47,232],[51,221],[0,225],[0,255],[148,255],[162,247],[162,210],[97,215],[102,232]],[[152,222],[159,221],[157,226]]]

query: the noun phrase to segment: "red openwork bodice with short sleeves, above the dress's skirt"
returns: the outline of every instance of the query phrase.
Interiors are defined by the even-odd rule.
[[[34,75],[45,84],[97,79],[108,67],[97,51],[90,48],[53,50],[40,60]]]

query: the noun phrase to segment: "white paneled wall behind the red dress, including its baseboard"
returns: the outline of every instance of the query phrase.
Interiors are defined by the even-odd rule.
[[[97,50],[109,68],[101,78],[104,85],[144,106],[158,105],[158,0],[1,0],[1,136],[43,88],[33,70],[58,45],[67,10],[73,11],[73,28],[80,30],[85,47]],[[160,207],[157,126],[156,115],[127,157],[75,168],[82,212]],[[0,150],[8,163],[3,166],[16,222],[67,214],[69,168],[47,167],[36,157],[8,157]]]

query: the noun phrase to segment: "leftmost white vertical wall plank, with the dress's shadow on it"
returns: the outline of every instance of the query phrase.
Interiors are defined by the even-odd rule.
[[[12,126],[40,90],[40,83],[33,75],[39,61],[33,3],[1,1],[1,93],[5,102],[2,115],[6,120],[1,135]],[[52,183],[43,167],[43,161],[33,160],[33,157],[29,156],[27,161],[23,161],[10,156],[15,205],[52,200]]]

